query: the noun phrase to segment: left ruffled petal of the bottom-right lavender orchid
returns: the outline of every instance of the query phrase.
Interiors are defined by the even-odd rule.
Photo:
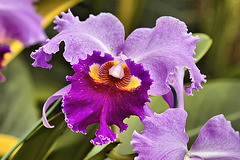
[[[186,118],[187,112],[179,108],[146,117],[142,135],[133,133],[131,144],[138,153],[135,159],[184,159],[188,142],[184,131]]]

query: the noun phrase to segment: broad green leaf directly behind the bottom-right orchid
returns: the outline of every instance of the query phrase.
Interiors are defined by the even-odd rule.
[[[240,131],[240,81],[220,79],[203,85],[193,97],[185,97],[188,112],[186,131],[190,145],[195,141],[201,127],[213,116],[224,114],[235,130]]]

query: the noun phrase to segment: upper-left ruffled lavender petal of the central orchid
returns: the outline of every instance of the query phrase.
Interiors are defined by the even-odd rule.
[[[43,51],[50,55],[55,54],[63,41],[65,43],[63,56],[71,64],[78,63],[78,59],[85,59],[93,50],[115,56],[123,48],[124,27],[110,13],[90,15],[86,21],[79,21],[78,17],[74,17],[68,10],[68,13],[62,13],[62,18],[56,16],[54,23],[57,24],[55,29],[59,33],[42,47]],[[32,54],[40,56],[38,52],[40,51]]]

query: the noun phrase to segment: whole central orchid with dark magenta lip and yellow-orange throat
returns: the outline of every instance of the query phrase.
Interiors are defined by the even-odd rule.
[[[122,122],[125,118],[145,118],[148,113],[143,108],[150,102],[148,94],[163,95],[171,106],[171,84],[183,107],[184,67],[189,69],[192,80],[186,88],[188,95],[193,89],[202,88],[201,82],[206,81],[192,57],[199,38],[187,33],[186,25],[176,18],[161,17],[154,28],[136,29],[126,41],[122,23],[110,13],[90,15],[86,21],[79,21],[69,10],[62,13],[62,18],[56,17],[54,23],[59,34],[31,54],[35,59],[33,66],[50,69],[47,62],[63,41],[63,56],[73,65],[75,74],[67,77],[69,86],[45,103],[46,127],[52,127],[45,116],[47,108],[63,98],[66,122],[73,131],[85,133],[88,125],[100,123],[97,137],[91,142],[109,143],[116,139],[109,126],[115,124],[122,132],[127,128]]]

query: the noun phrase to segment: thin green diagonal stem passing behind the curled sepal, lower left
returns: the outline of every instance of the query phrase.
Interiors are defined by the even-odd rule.
[[[54,109],[58,106],[62,99],[58,99],[53,106],[47,111],[46,116],[49,116]],[[20,144],[22,144],[40,125],[42,124],[42,118],[19,140],[19,142],[7,153],[1,160],[6,160],[15,151]]]

